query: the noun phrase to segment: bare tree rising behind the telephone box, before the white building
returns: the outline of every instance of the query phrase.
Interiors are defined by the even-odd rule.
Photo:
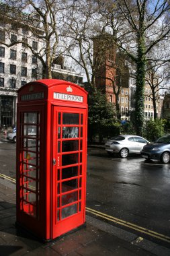
[[[26,0],[26,1],[6,1],[1,9],[1,20],[5,20],[4,31],[10,38],[11,30],[26,28],[43,43],[42,49],[36,51],[32,44],[22,38],[13,40],[9,43],[1,40],[1,44],[11,47],[15,44],[25,44],[33,55],[35,55],[42,63],[43,77],[51,78],[51,66],[61,53],[58,49],[60,38],[60,11],[62,11],[62,3],[60,0]]]

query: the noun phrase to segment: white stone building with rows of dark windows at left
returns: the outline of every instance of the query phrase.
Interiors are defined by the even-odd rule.
[[[9,44],[13,40],[27,41],[35,51],[40,51],[43,42],[25,28],[4,31],[0,24],[0,40]],[[6,25],[7,26],[7,25]],[[41,78],[41,63],[25,44],[7,47],[0,44],[0,126],[11,127],[16,123],[17,90],[27,82]]]

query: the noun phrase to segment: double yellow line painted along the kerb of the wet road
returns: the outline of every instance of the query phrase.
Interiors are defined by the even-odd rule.
[[[11,177],[8,177],[7,175],[2,174],[2,173],[0,173],[0,178],[7,179],[8,181],[11,181],[12,183],[16,183],[15,179],[13,179]],[[93,214],[93,215],[95,215],[97,217],[100,217],[100,218],[103,218],[105,220],[109,220],[110,222],[114,222],[116,224],[120,224],[122,226],[126,226],[127,228],[130,228],[132,230],[136,230],[138,232],[142,232],[143,234],[147,234],[148,236],[153,236],[155,238],[158,238],[159,240],[162,240],[162,241],[165,241],[167,243],[170,243],[170,237],[169,236],[165,236],[164,234],[157,233],[157,232],[155,232],[153,230],[149,230],[147,228],[142,228],[141,226],[132,224],[130,222],[126,222],[124,220],[115,218],[115,217],[110,216],[108,214],[103,214],[102,212],[98,212],[98,211],[93,210],[93,209],[91,209],[89,207],[86,207],[86,212],[89,212],[90,214]]]

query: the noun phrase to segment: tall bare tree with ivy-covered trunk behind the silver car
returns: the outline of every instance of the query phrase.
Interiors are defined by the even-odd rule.
[[[98,1],[105,29],[116,34],[116,45],[136,63],[136,132],[144,125],[144,83],[148,53],[169,40],[169,1]],[[165,51],[162,60],[169,59]],[[160,61],[160,59],[155,59]]]

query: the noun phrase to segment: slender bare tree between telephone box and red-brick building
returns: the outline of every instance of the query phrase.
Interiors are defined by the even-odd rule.
[[[84,71],[89,86],[96,90],[96,69],[101,64],[101,59],[93,55],[98,22],[96,5],[92,0],[67,1],[65,9],[67,11],[62,13],[62,22],[65,24],[62,46],[66,49],[65,56],[71,57],[75,66]]]

